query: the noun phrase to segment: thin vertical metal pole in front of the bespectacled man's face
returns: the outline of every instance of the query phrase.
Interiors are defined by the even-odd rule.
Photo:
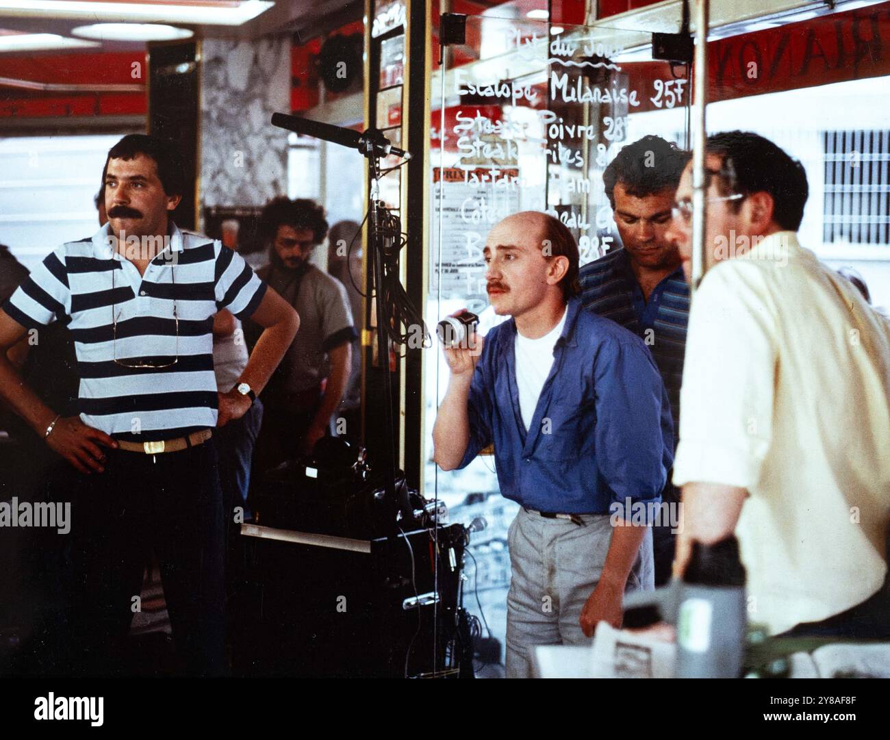
[[[710,0],[695,4],[695,78],[692,84],[692,292],[705,273],[705,108],[708,105],[708,11]]]

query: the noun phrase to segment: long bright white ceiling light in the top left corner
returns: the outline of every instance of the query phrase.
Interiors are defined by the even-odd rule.
[[[207,26],[240,26],[269,10],[271,0],[243,0],[238,4],[102,3],[90,0],[0,0],[0,12],[20,18],[75,20],[158,20]]]

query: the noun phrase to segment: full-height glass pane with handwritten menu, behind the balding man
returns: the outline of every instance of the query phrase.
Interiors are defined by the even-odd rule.
[[[461,308],[480,316],[481,334],[504,320],[488,302],[482,248],[511,213],[560,219],[582,265],[619,246],[603,189],[611,158],[646,133],[688,145],[688,68],[651,60],[650,43],[649,33],[608,22],[466,19],[465,44],[449,48],[432,82],[427,326]],[[464,603],[500,641],[502,661],[506,533],[518,505],[500,495],[490,451],[462,471],[432,462],[430,431],[449,375],[441,349],[425,351],[425,495],[447,503],[452,521],[487,522],[468,549]]]

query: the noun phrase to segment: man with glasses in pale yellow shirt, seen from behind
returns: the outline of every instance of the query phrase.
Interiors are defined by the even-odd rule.
[[[890,639],[890,332],[797,241],[799,162],[756,133],[706,145],[705,266],[693,294],[674,483],[675,575],[736,534],[748,618],[770,634]],[[668,237],[690,277],[692,165]]]

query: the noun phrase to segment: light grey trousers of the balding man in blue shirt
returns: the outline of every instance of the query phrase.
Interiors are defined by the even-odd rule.
[[[520,509],[507,535],[506,677],[530,678],[536,645],[590,645],[579,619],[603,573],[611,543],[608,514],[545,519]],[[643,538],[626,591],[654,588],[651,528]]]

